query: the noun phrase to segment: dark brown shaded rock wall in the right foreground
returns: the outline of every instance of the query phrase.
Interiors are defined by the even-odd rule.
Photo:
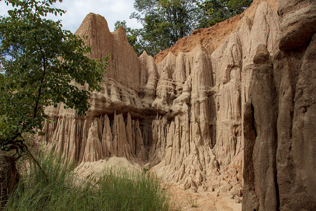
[[[280,0],[278,14],[274,53],[253,58],[243,210],[315,210],[316,2]]]

